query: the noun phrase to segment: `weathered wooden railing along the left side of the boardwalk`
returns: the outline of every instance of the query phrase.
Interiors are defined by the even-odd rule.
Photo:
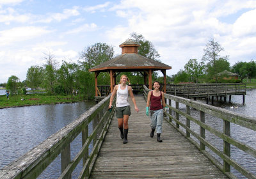
[[[83,169],[78,178],[88,178],[114,114],[114,110],[111,113],[107,111],[109,99],[110,95],[18,160],[3,167],[0,170],[0,178],[36,178],[58,155],[61,155],[59,178],[71,178],[72,171],[82,159]],[[92,133],[89,134],[88,125],[91,122],[93,128]],[[70,143],[79,134],[82,134],[83,146],[76,157],[71,160]],[[92,141],[93,148],[89,155],[89,144]]]

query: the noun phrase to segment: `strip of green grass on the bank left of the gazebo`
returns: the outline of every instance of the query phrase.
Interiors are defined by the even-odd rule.
[[[24,100],[21,100],[21,99]],[[61,104],[81,102],[83,98],[76,96],[72,99],[70,96],[61,95],[45,95],[45,94],[31,94],[31,95],[12,95],[9,100],[6,95],[0,96],[0,109],[6,107],[20,107],[29,105],[42,105],[42,104]]]

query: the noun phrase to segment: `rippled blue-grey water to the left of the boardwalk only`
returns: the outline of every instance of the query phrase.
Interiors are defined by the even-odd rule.
[[[94,101],[87,101],[0,109],[0,168],[42,143],[93,105]],[[74,157],[74,153],[81,148],[81,135],[71,143],[71,146],[77,146],[77,151],[71,151]],[[50,166],[39,178],[60,176],[60,156]]]

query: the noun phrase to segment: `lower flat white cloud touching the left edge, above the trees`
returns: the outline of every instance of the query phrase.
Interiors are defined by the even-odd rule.
[[[51,33],[51,31],[45,29],[45,27],[14,27],[12,29],[0,31],[0,46],[10,45],[13,42],[29,40],[47,33]]]

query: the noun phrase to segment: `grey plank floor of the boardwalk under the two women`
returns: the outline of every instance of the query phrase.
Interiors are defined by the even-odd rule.
[[[114,117],[90,178],[227,178],[204,154],[163,121],[163,143],[150,134],[146,102],[136,96],[140,112],[131,102],[128,143],[120,138]]]

